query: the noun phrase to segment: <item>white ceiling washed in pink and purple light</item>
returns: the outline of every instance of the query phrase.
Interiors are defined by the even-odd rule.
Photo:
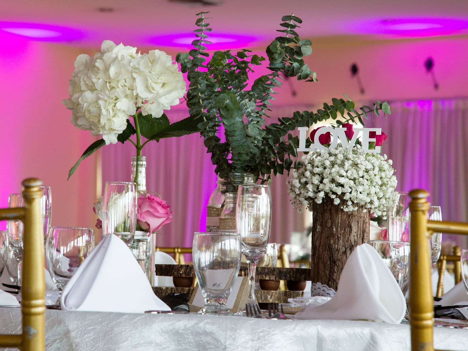
[[[99,7],[112,7],[102,13]],[[80,29],[86,37],[69,43],[99,47],[104,39],[148,46],[147,38],[190,33],[195,14],[211,11],[215,31],[271,40],[282,15],[292,12],[304,21],[302,37],[362,34],[363,23],[399,18],[468,20],[467,0],[224,0],[219,6],[187,5],[168,0],[1,0],[0,22],[37,22]],[[364,25],[372,32],[371,25]],[[263,43],[262,43],[263,44]]]

